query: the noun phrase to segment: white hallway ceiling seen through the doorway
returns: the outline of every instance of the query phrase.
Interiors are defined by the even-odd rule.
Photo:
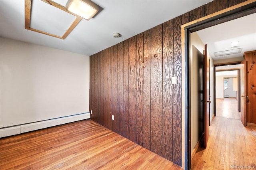
[[[214,60],[242,57],[245,51],[256,50],[256,13],[199,30],[197,34]],[[214,52],[230,50],[234,41],[239,41],[241,53],[214,56]]]

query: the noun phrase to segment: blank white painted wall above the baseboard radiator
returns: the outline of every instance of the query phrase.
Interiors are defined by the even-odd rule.
[[[1,37],[0,127],[89,112],[89,56]]]

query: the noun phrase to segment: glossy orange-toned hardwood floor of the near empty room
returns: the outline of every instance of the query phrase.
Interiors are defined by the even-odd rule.
[[[0,169],[182,168],[89,119],[1,138]]]

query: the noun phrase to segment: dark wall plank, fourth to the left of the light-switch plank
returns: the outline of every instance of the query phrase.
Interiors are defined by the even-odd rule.
[[[143,144],[143,33],[138,34],[136,43],[136,143]]]

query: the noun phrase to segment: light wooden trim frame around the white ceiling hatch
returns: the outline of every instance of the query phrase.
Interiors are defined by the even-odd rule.
[[[64,7],[64,6],[54,2],[52,0],[41,0],[41,1],[46,2],[47,4],[50,4],[50,5],[52,5],[56,8],[59,8],[60,10],[68,12],[69,14],[74,15],[72,12],[69,12],[68,10],[66,10],[66,7]],[[38,33],[41,33],[41,34],[45,34],[45,35],[48,35],[48,36],[52,36],[52,37],[60,38],[60,39],[64,40],[64,39],[67,38],[67,36],[70,34],[70,32],[72,32],[72,30],[77,26],[77,24],[82,20],[82,17],[74,15],[74,16],[76,16],[76,19],[73,21],[73,23],[66,30],[66,32],[64,32],[64,34],[62,36],[57,36],[57,35],[54,35],[54,34],[50,34],[48,32],[36,30],[34,28],[30,28],[31,3],[32,3],[32,0],[25,0],[25,29],[27,29],[27,30],[31,30],[31,31],[34,31],[34,32],[38,32]]]

